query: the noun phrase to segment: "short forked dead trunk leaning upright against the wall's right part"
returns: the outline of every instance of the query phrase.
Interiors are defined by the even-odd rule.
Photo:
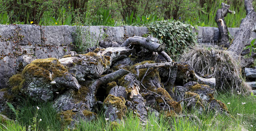
[[[221,3],[221,9],[218,9],[215,16],[215,22],[218,24],[219,32],[221,36],[221,42],[218,43],[219,46],[223,45],[225,47],[229,47],[229,31],[227,30],[226,21],[224,20],[224,17],[227,16],[227,13],[232,13],[233,11],[230,11],[230,5],[227,5],[225,3]]]

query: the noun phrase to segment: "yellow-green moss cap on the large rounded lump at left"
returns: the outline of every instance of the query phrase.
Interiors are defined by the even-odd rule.
[[[51,81],[56,77],[61,77],[67,69],[60,64],[56,58],[37,59],[28,64],[22,71],[22,75],[30,74],[38,78],[45,78]],[[52,76],[50,76],[50,73]]]

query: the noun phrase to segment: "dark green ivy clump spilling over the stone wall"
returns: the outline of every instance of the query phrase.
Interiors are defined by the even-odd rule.
[[[165,51],[174,60],[184,52],[188,46],[195,45],[196,35],[191,31],[192,26],[180,21],[155,21],[148,26],[148,34],[157,37],[166,44]]]

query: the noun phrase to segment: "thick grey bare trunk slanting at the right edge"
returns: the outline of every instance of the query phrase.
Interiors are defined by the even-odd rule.
[[[227,49],[227,51],[234,52],[236,55],[240,56],[241,52],[246,44],[246,41],[251,36],[251,32],[253,30],[253,26],[256,23],[256,13],[252,6],[252,0],[245,0],[245,11],[246,17],[242,19],[240,28],[236,32],[234,36],[233,43]]]

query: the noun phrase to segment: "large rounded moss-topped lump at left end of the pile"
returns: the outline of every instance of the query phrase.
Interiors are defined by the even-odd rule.
[[[12,76],[10,80],[16,83],[16,76]],[[65,88],[73,90],[80,88],[74,75],[67,72],[67,69],[55,58],[32,61],[23,69],[22,80],[19,80],[17,86],[15,90],[30,96],[33,100],[45,102],[53,98],[54,92],[60,92]]]

